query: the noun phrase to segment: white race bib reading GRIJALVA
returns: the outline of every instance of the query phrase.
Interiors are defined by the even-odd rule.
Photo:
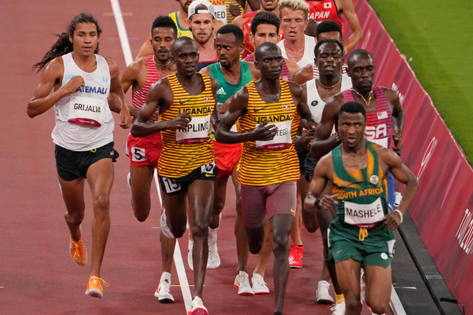
[[[105,120],[105,99],[70,95],[69,123],[100,127]]]

